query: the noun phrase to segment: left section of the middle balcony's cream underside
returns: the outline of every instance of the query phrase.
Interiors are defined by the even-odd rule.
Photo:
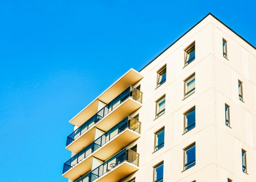
[[[83,159],[81,162],[65,172],[62,176],[70,180],[76,180],[80,176],[92,170],[92,156]]]

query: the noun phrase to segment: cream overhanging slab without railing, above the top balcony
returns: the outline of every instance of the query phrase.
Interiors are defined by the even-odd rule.
[[[90,119],[98,111],[98,101],[109,103],[128,86],[134,85],[142,78],[143,76],[139,72],[134,69],[130,69],[69,122],[80,127],[84,121]]]

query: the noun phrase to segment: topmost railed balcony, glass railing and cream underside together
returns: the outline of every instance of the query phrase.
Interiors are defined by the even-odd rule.
[[[95,130],[108,131],[122,118],[141,107],[142,92],[129,86],[119,96],[67,137],[66,149],[78,153],[94,140]]]

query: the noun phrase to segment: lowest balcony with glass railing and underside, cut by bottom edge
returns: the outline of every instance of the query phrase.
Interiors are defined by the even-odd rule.
[[[73,182],[118,182],[139,169],[139,154],[124,149],[90,173]]]

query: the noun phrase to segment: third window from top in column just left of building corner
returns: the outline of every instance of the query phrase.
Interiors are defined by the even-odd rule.
[[[184,114],[184,133],[195,127],[195,107]]]

